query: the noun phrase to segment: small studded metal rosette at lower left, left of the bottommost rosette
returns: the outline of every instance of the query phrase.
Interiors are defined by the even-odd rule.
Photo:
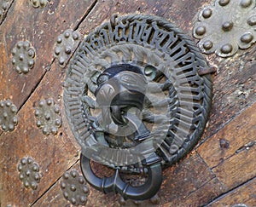
[[[24,187],[36,190],[40,182],[39,165],[32,158],[21,158],[18,170]]]

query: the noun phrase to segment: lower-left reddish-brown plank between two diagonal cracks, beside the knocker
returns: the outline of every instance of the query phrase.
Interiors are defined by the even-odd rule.
[[[47,98],[53,98],[55,103],[61,106],[61,81],[55,79],[63,80],[63,78],[60,68],[53,67],[47,72],[38,89],[18,113],[20,124],[17,129],[0,137],[3,206],[32,204],[78,159],[79,148],[75,147],[73,136],[67,135],[65,123],[62,124],[57,135],[48,136],[36,126],[37,119],[33,106],[41,99]],[[17,164],[23,157],[32,157],[40,166],[42,177],[35,191],[23,187],[19,180]]]

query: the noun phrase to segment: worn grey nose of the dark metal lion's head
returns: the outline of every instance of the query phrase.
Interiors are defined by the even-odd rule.
[[[101,106],[110,106],[113,97],[115,96],[115,89],[111,84],[104,84],[102,88],[99,89],[96,95],[96,101]]]

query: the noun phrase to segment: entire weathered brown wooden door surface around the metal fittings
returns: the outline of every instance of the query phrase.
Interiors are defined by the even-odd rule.
[[[112,14],[143,13],[164,17],[191,36],[195,14],[210,2],[56,0],[34,9],[30,1],[14,1],[0,26],[0,100],[10,99],[20,110],[15,131],[0,135],[0,206],[71,206],[62,195],[60,180],[65,171],[79,170],[79,147],[63,111],[65,69],[53,57],[61,32],[72,28],[86,35]],[[37,60],[32,71],[20,75],[12,68],[11,49],[25,39],[36,49]],[[213,76],[212,113],[205,134],[193,152],[164,171],[160,203],[140,205],[256,206],[255,56],[252,47],[228,59],[207,57],[218,72]],[[34,106],[47,98],[62,108],[64,121],[57,135],[45,136],[36,126]],[[41,181],[35,191],[23,187],[18,177],[17,164],[26,156],[40,166]],[[87,206],[119,206],[118,200],[117,195],[90,187]]]

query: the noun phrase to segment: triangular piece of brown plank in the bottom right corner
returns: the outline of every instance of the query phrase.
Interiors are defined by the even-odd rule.
[[[249,207],[256,204],[256,178],[248,181],[241,187],[236,188],[230,193],[224,194],[221,198],[212,201],[207,207],[226,207],[226,206],[241,206]]]

